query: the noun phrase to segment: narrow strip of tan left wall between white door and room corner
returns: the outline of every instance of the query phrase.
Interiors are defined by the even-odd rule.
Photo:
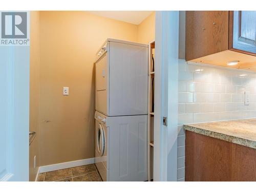
[[[30,28],[30,131],[37,135],[29,147],[29,180],[34,181],[39,160],[39,12],[32,11]],[[36,168],[34,168],[34,156],[36,156]]]

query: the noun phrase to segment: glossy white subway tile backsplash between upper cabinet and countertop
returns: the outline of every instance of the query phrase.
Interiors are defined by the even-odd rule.
[[[185,178],[183,124],[256,117],[256,74],[179,60],[178,169]],[[249,105],[244,92],[250,92]]]

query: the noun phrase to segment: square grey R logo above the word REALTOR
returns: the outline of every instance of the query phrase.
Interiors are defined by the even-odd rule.
[[[2,38],[27,38],[27,12],[2,12]]]

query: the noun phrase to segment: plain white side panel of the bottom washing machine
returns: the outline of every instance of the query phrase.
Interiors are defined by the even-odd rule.
[[[147,180],[147,115],[108,118],[109,181]]]

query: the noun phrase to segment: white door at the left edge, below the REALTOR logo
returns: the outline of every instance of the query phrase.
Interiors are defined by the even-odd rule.
[[[28,181],[29,46],[0,45],[0,58],[0,181]]]

